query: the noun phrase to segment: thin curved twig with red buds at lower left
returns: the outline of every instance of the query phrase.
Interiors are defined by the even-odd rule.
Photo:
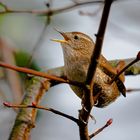
[[[46,110],[46,111],[50,111],[54,114],[60,115],[62,117],[65,117],[65,118],[67,118],[67,119],[69,119],[77,124],[80,123],[79,120],[74,118],[73,116],[67,115],[67,114],[60,112],[60,111],[53,109],[53,108],[48,108],[48,107],[36,105],[36,103],[32,103],[32,105],[16,105],[16,104],[4,102],[3,105],[6,107],[11,107],[11,108],[36,108],[36,109]]]

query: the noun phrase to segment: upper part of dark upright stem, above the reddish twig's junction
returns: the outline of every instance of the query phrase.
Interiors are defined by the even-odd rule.
[[[96,67],[98,65],[98,61],[99,61],[99,58],[101,55],[101,49],[102,49],[105,29],[106,29],[110,6],[111,6],[112,2],[113,2],[113,0],[105,1],[102,19],[100,22],[100,27],[99,27],[98,33],[96,35],[97,38],[96,38],[96,42],[95,42],[95,49],[94,49],[92,57],[91,57],[91,63],[89,65],[87,79],[86,79],[86,84],[90,85],[91,88],[93,87],[93,84],[94,84],[94,74],[95,74]]]

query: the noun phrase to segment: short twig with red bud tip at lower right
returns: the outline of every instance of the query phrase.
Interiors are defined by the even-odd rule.
[[[112,122],[113,122],[113,120],[112,120],[112,119],[109,119],[109,120],[107,121],[107,123],[106,123],[103,127],[99,128],[96,132],[94,132],[93,134],[91,134],[91,135],[89,136],[90,139],[92,139],[92,138],[95,137],[97,134],[99,134],[100,132],[102,132],[105,128],[107,128],[108,126],[110,126],[110,125],[112,124]]]

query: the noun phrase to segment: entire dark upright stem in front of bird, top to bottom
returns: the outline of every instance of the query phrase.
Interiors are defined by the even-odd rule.
[[[98,65],[98,60],[101,54],[103,38],[104,38],[106,24],[107,24],[109,11],[110,11],[112,2],[113,0],[105,1],[102,18],[101,18],[99,30],[97,33],[97,39],[95,42],[95,48],[91,56],[91,62],[90,62],[88,73],[87,73],[86,85],[90,85],[90,92],[88,89],[85,90],[84,97],[82,98],[83,108],[79,112],[79,119],[85,123],[84,125],[79,126],[81,140],[90,139],[88,135],[87,124],[88,124],[91,109],[94,105],[94,99],[93,99],[94,75],[95,75],[96,67]]]

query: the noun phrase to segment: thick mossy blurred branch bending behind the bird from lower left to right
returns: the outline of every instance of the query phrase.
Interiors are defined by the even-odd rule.
[[[126,64],[128,64],[132,60],[134,60],[134,58],[125,59],[124,61],[126,62]],[[118,61],[120,61],[120,60],[113,60],[113,61],[110,61],[110,63],[113,66],[115,66],[118,63]],[[132,71],[132,69],[134,70],[134,72]],[[136,69],[137,72],[135,71],[135,69]],[[140,63],[138,62],[137,64],[134,64],[131,67],[131,69],[127,70],[126,72],[127,72],[126,74],[128,74],[128,73],[129,74],[140,74]],[[64,77],[65,76],[63,67],[57,67],[57,68],[48,70],[47,73],[49,75],[56,75],[58,77]],[[52,81],[51,81],[51,83],[52,83]],[[56,83],[55,84],[54,83],[52,84],[52,86],[56,85]],[[43,96],[44,90],[49,89],[50,82],[46,81],[46,85],[48,87],[45,88],[45,89],[44,89],[44,85],[45,85],[45,79],[34,77],[32,79],[32,82],[28,85],[28,87],[26,89],[26,94],[25,94],[25,97],[23,99],[22,104],[28,105],[28,104],[31,104],[32,102],[36,102],[35,100],[38,97],[39,97],[38,100],[40,101],[41,97]],[[30,113],[34,114],[34,115],[31,117],[31,116],[28,115]],[[25,115],[23,116],[23,114],[25,114]],[[15,125],[13,127],[12,132],[11,132],[12,138],[11,139],[9,138],[9,140],[16,140],[16,136],[22,138],[23,136],[25,136],[24,135],[25,130],[29,129],[29,133],[30,133],[32,128],[31,127],[29,128],[29,126],[31,126],[31,124],[34,123],[35,118],[36,118],[36,110],[35,109],[32,109],[32,110],[30,110],[30,109],[20,109],[20,112],[17,115],[16,121],[15,121]],[[30,121],[30,120],[32,120],[32,121]],[[27,122],[32,122],[32,123],[27,123]],[[27,134],[27,135],[29,135],[29,134]]]

